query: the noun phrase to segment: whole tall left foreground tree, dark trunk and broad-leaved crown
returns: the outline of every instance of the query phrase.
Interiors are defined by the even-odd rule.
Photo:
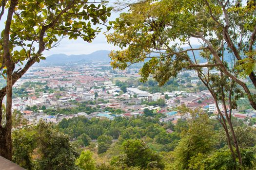
[[[0,72],[6,77],[6,86],[0,89],[0,107],[6,96],[6,125],[0,126],[0,155],[11,160],[12,86],[33,64],[45,59],[44,50],[58,46],[64,37],[81,37],[91,42],[100,31],[91,23],[106,22],[111,8],[84,0],[1,0],[0,6],[0,21],[4,23]],[[7,17],[2,21],[5,9]]]

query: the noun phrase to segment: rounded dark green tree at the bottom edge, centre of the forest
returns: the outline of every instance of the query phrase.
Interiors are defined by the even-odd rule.
[[[123,155],[114,164],[125,167],[140,167],[142,170],[163,169],[161,157],[154,153],[142,140],[130,139],[123,143]]]

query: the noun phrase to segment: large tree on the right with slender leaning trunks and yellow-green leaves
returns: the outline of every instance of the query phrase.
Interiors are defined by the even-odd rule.
[[[196,70],[215,99],[233,159],[237,155],[242,164],[231,113],[242,96],[256,109],[256,97],[242,79],[248,77],[255,90],[255,0],[138,0],[128,7],[128,13],[110,22],[114,33],[107,34],[108,42],[121,48],[110,53],[113,68],[144,62],[141,80],[153,76],[159,85],[181,71]]]

